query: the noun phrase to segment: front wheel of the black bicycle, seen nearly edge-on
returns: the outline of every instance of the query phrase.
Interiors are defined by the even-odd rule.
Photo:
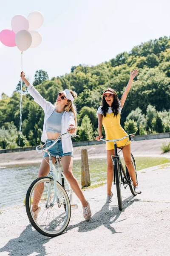
[[[118,200],[119,210],[122,211],[120,170],[119,170],[119,163],[116,157],[114,159],[114,172],[115,172],[115,179],[116,179],[116,190],[117,190],[117,200]]]

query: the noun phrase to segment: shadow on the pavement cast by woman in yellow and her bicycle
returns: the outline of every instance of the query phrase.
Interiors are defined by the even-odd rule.
[[[118,221],[118,218],[121,215],[121,213],[124,212],[125,209],[131,206],[135,201],[140,201],[140,199],[134,198],[133,195],[129,196],[124,201],[122,201],[122,211],[119,210],[117,205],[104,204],[102,209],[99,210],[99,212],[96,212],[94,215],[92,215],[90,221],[81,221],[78,224],[69,226],[67,230],[72,230],[75,227],[78,227],[78,232],[88,232],[91,230],[95,230],[100,226],[105,226],[112,232],[112,234],[122,233],[116,232],[116,230],[114,229],[114,227],[111,226],[111,224],[113,224],[114,222],[125,221],[126,219]]]

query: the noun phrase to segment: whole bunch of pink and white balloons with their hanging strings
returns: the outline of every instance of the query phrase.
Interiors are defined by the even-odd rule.
[[[23,52],[28,48],[34,48],[41,44],[42,37],[37,29],[42,26],[44,17],[41,12],[31,12],[28,17],[23,15],[15,15],[11,20],[10,29],[4,29],[0,32],[0,41],[2,44],[8,47],[15,47],[21,51],[21,70],[23,70]],[[23,112],[23,100],[22,100],[22,79],[20,88],[20,140],[22,138],[22,112]]]

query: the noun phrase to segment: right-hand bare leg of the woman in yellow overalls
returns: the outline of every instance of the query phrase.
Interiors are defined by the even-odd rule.
[[[133,186],[137,186],[137,183],[136,183],[136,174],[135,174],[135,169],[133,167],[133,164],[131,162],[131,155],[130,155],[130,144],[129,145],[126,145],[124,148],[123,148],[123,157],[124,157],[124,160],[125,160],[125,165],[128,169],[128,172],[130,174],[130,177],[133,181]]]

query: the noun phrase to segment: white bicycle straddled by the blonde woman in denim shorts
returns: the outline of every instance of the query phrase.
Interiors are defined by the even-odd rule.
[[[61,159],[56,156],[55,165],[48,149],[57,143],[65,134],[61,134],[54,143],[47,146],[38,145],[37,152],[47,152],[49,155],[50,172],[47,177],[39,177],[34,180],[28,188],[26,194],[26,212],[32,226],[44,236],[58,236],[68,226],[71,217],[71,209],[77,209],[77,204],[73,204],[73,191],[68,180],[62,172]],[[75,137],[74,135],[72,137]],[[38,205],[41,208],[37,219],[32,214],[32,203],[34,192],[36,191]]]

